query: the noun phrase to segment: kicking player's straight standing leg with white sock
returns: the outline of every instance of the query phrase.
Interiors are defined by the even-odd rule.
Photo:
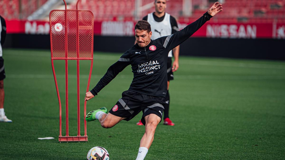
[[[141,139],[139,153],[136,160],[142,160],[146,156],[148,149],[153,141],[156,126],[160,122],[160,117],[156,114],[150,114],[144,117],[145,119],[145,132]]]

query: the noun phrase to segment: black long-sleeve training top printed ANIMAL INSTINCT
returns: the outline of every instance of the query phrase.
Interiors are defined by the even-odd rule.
[[[144,47],[135,44],[111,65],[97,85],[90,91],[94,96],[110,83],[125,67],[132,65],[134,74],[129,90],[152,96],[165,97],[167,91],[168,52],[188,39],[212,16],[207,12],[184,29],[169,36],[151,40]]]

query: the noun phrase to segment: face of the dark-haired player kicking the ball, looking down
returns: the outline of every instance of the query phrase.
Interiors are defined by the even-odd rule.
[[[147,30],[135,30],[136,41],[140,47],[145,47],[149,44],[151,35],[151,31],[148,33]]]

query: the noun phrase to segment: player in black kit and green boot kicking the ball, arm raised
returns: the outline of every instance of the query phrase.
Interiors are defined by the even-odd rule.
[[[144,159],[153,141],[156,126],[162,119],[167,91],[168,53],[194,34],[207,20],[223,11],[222,5],[218,3],[214,3],[201,18],[184,29],[156,40],[150,39],[150,24],[140,20],[135,25],[137,44],[109,67],[97,85],[86,93],[85,100],[97,95],[119,72],[131,64],[134,78],[129,90],[122,93],[122,98],[108,114],[107,108],[102,107],[89,112],[86,121],[99,120],[103,128],[111,128],[121,120],[131,120],[142,111],[141,122],[145,125],[145,133],[141,139],[137,160]]]

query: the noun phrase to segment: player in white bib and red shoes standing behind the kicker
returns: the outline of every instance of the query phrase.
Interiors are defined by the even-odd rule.
[[[170,14],[165,12],[166,9],[166,0],[155,0],[155,12],[149,13],[143,20],[148,21],[151,26],[152,31],[152,40],[160,38],[162,36],[168,36],[174,34],[178,31],[178,25],[176,19]],[[172,55],[174,56],[174,62],[172,65]],[[179,46],[171,50],[168,54],[167,60],[167,93],[165,97],[164,104],[164,123],[169,126],[174,126],[174,123],[169,119],[169,105],[170,105],[170,96],[169,96],[169,82],[174,79],[173,72],[177,71],[179,67],[178,63],[179,57]],[[137,125],[141,126],[143,123],[141,121],[137,122]]]

